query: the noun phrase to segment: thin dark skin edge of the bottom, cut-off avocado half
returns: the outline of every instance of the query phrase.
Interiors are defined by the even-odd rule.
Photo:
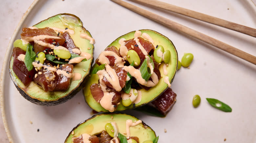
[[[72,132],[75,131],[75,129],[77,129],[81,124],[91,120],[91,119],[94,119],[94,118],[97,118],[97,117],[100,117],[100,116],[104,116],[104,115],[110,115],[110,116],[114,116],[114,115],[127,115],[127,114],[124,114],[124,113],[104,113],[104,114],[98,114],[98,115],[94,115],[92,116],[91,118],[89,119],[86,119],[85,121],[82,121],[80,122],[79,124],[77,124],[72,130],[71,132],[68,134],[68,136],[66,137],[65,139],[65,143],[67,142],[68,138],[72,135]],[[128,115],[128,116],[131,116],[131,115]],[[138,118],[136,118],[135,116],[131,116],[132,118],[134,119],[137,119],[139,120]],[[143,121],[142,121],[142,125],[143,125],[143,128],[147,129],[147,128],[150,128],[147,124],[145,124]],[[151,128],[150,128],[151,129]],[[151,131],[154,133],[154,135],[156,135],[155,131],[153,129],[151,129]],[[122,133],[121,133],[122,134]]]

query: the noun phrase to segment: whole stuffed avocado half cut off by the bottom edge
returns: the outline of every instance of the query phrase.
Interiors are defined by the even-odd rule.
[[[88,141],[89,140],[89,141]],[[144,122],[127,114],[99,114],[79,123],[65,143],[157,143],[155,132]],[[132,142],[133,141],[133,142]]]

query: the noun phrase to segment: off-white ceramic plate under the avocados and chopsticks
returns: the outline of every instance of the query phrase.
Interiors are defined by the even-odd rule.
[[[256,28],[256,6],[249,0],[171,2],[173,5]],[[172,12],[136,5],[256,55],[254,37]],[[139,29],[152,29],[168,37],[176,46],[179,59],[184,53],[193,53],[194,60],[190,69],[181,67],[176,73],[171,88],[177,93],[177,102],[165,118],[126,111],[152,127],[159,135],[159,143],[220,143],[224,139],[230,143],[256,142],[255,65],[108,0],[34,2],[10,43],[20,38],[22,27],[32,26],[59,13],[72,13],[82,20],[84,27],[96,40],[95,57],[117,37]],[[68,102],[51,107],[38,106],[24,99],[9,75],[12,44],[9,45],[2,72],[1,109],[10,142],[64,142],[73,127],[92,116],[92,109],[85,103],[81,91]],[[202,99],[198,108],[192,106],[195,94],[199,94]],[[227,103],[232,112],[225,113],[213,108],[205,98],[216,98]]]

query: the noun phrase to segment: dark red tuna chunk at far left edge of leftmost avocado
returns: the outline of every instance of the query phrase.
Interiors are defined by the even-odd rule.
[[[12,70],[17,75],[17,77],[21,80],[21,82],[25,86],[28,86],[33,81],[33,77],[36,71],[34,70],[34,68],[31,71],[28,71],[25,63],[17,59],[17,57],[20,54],[25,55],[26,52],[19,47],[14,47],[13,53],[12,53],[12,56],[13,56]]]

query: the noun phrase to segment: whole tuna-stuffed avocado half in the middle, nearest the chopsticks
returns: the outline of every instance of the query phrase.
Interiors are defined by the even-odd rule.
[[[118,56],[111,58],[109,51],[120,56],[120,61],[117,61]],[[129,56],[129,53],[135,54]],[[100,57],[103,54],[108,60],[105,60],[105,57]],[[129,59],[134,55],[137,58]],[[96,59],[91,76],[83,88],[85,101],[97,112],[122,111],[150,103],[171,86],[177,71],[177,64],[176,48],[167,37],[148,29],[127,33],[114,40]],[[144,71],[141,70],[143,66]],[[121,86],[121,90],[120,87],[117,89],[113,86],[118,80],[117,82],[111,81],[113,73],[107,71],[108,69],[111,71],[110,67],[116,71],[120,86],[124,85]],[[133,69],[133,71],[129,69]],[[107,76],[110,76],[110,78],[106,77],[107,80],[106,73]],[[141,77],[144,80],[140,80]],[[129,84],[131,79],[132,82]],[[143,82],[141,82],[142,80]],[[108,82],[112,82],[111,85]],[[150,84],[151,86],[148,86]],[[130,87],[126,87],[127,85]],[[115,90],[112,90],[113,88]],[[103,91],[104,95],[102,96]],[[102,99],[107,100],[104,98],[105,95],[111,93],[114,93],[114,96],[110,96],[108,100],[110,103],[101,103]],[[119,99],[116,98],[117,96]],[[129,102],[127,99],[130,99]],[[110,108],[110,106],[112,107]]]

